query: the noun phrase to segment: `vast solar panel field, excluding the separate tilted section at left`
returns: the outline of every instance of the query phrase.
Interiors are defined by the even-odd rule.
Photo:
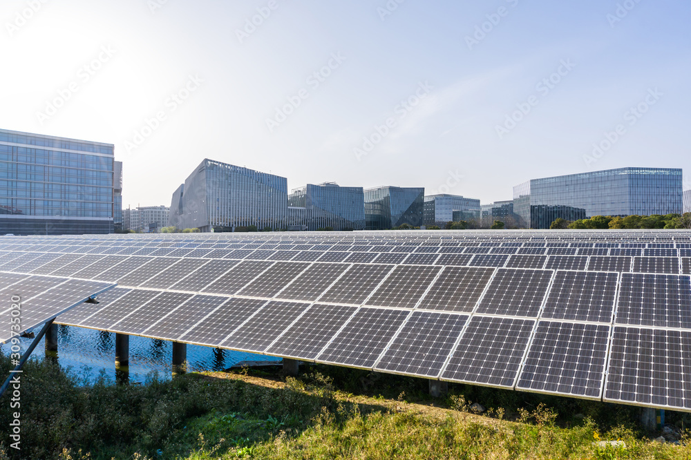
[[[691,232],[0,238],[0,271],[119,287],[60,323],[691,410]]]

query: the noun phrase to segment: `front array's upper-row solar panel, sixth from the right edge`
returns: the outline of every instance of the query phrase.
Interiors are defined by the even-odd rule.
[[[361,305],[392,269],[390,265],[352,265],[319,301]]]

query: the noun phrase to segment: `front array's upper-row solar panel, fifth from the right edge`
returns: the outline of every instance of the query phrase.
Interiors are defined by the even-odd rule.
[[[413,308],[439,270],[439,267],[399,265],[381,283],[372,297],[366,300],[366,304],[379,307]]]

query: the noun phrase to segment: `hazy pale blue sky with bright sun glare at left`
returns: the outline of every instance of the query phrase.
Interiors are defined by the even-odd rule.
[[[3,0],[0,128],[106,142],[123,206],[204,158],[483,204],[683,168],[688,0]]]

